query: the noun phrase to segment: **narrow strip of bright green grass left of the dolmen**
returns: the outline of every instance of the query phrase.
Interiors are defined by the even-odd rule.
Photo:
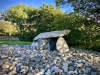
[[[0,44],[8,44],[8,45],[15,45],[15,44],[28,45],[31,43],[32,42],[29,42],[29,41],[0,41]]]

